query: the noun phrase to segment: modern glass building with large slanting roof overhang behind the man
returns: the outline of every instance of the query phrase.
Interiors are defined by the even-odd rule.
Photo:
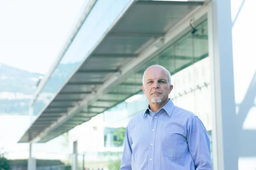
[[[251,142],[256,140],[251,121],[256,118],[256,62],[249,57],[253,47],[239,36],[241,27],[255,26],[236,25],[251,17],[244,8],[254,12],[248,4],[90,0],[52,71],[41,80],[31,103],[34,119],[19,142],[30,143],[31,153],[32,144],[68,132],[67,159],[74,170],[118,168],[125,128],[148,105],[143,73],[159,64],[172,75],[169,98],[207,128],[214,168],[256,167]],[[241,68],[247,74],[241,75]],[[35,169],[31,154],[30,169]]]

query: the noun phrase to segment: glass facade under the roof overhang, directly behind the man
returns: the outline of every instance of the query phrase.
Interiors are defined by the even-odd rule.
[[[118,98],[123,102],[84,123],[88,126],[93,125],[94,129],[97,127],[93,135],[89,132],[84,133],[90,140],[87,144],[95,145],[96,140],[101,140],[101,142],[98,141],[94,150],[84,147],[85,139],[79,142],[79,148],[82,148],[79,150],[79,157],[85,156],[85,167],[118,169],[125,139],[125,127],[135,114],[145,111],[148,106],[148,100],[141,90],[141,85],[143,73],[150,65],[159,64],[171,72],[174,89],[169,97],[175,105],[198,115],[212,139],[207,20],[195,29],[194,34],[192,32],[184,34],[160,54],[142,64],[134,73],[125,77],[119,85],[109,89],[112,95],[102,95],[102,100]],[[122,94],[131,94],[131,97],[126,99]],[[75,129],[71,130],[70,134],[75,131]],[[95,135],[100,137],[95,138]],[[79,159],[80,164],[81,161],[82,159]],[[96,166],[96,162],[101,165]]]

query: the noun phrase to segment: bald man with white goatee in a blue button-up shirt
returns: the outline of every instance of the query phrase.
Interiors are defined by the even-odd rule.
[[[172,103],[172,88],[166,68],[144,72],[149,105],[127,125],[120,170],[212,170],[207,130],[198,116]]]

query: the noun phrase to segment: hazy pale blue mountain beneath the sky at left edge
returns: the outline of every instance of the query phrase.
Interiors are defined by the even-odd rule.
[[[42,76],[0,64],[0,114],[28,114],[30,99]]]

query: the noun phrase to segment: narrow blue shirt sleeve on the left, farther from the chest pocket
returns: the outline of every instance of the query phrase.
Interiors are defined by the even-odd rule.
[[[129,135],[129,128],[127,126],[120,170],[131,170],[131,155],[132,155],[131,144],[132,144],[132,140]]]

